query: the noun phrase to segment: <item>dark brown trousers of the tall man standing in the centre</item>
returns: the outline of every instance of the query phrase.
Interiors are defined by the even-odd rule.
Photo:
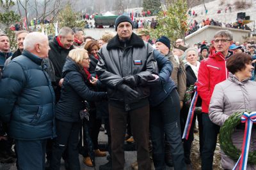
[[[124,139],[127,117],[131,118],[131,129],[137,145],[139,169],[150,169],[148,152],[149,105],[125,111],[109,103],[109,124],[111,129],[112,169],[124,169]]]

